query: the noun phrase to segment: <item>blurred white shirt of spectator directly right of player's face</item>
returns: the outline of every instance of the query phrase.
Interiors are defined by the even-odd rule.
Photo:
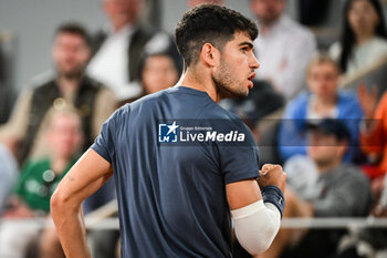
[[[254,49],[261,64],[257,78],[273,83],[286,100],[304,89],[306,66],[316,51],[311,31],[282,16],[268,31],[261,31]]]

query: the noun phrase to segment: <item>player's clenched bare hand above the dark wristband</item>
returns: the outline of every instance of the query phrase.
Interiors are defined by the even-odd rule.
[[[258,184],[261,188],[268,185],[274,185],[280,187],[282,193],[285,193],[286,173],[282,171],[280,165],[265,164],[260,171],[260,175]]]

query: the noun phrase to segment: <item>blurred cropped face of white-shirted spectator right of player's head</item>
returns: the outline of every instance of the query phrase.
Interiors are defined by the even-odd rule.
[[[276,21],[282,16],[285,4],[285,0],[250,0],[251,11],[263,24]]]

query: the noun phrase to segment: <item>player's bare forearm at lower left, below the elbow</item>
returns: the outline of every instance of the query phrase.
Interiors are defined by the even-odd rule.
[[[60,197],[53,196],[51,213],[65,256],[67,258],[91,257],[81,205],[66,204]]]

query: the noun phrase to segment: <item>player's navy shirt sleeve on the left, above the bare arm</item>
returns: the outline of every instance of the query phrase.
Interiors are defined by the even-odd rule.
[[[123,110],[124,107],[114,112],[102,125],[100,135],[92,145],[92,148],[109,163],[112,163],[115,157],[116,137],[122,124]]]

